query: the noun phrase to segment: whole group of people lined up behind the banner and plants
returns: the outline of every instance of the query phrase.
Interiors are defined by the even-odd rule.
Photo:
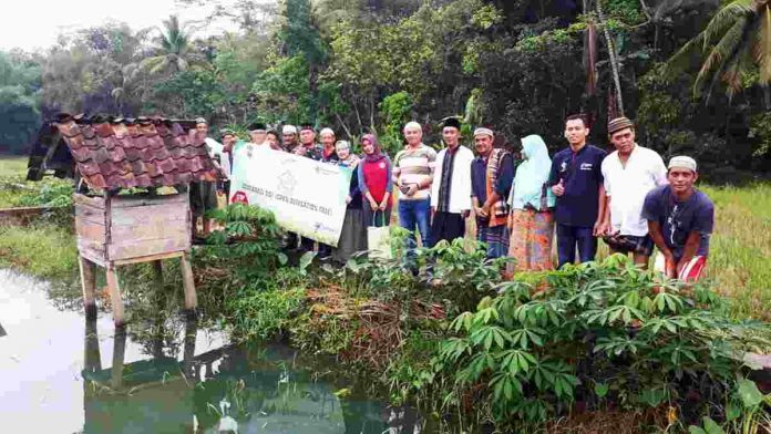
[[[197,128],[205,131],[205,121],[199,121]],[[358,156],[330,128],[318,133],[317,143],[310,124],[285,125],[280,140],[277,132],[255,124],[247,152],[268,146],[352,169],[339,245],[319,246],[321,256],[340,261],[367,250],[367,227],[390,224],[395,187],[399,224],[412,234],[412,247],[417,235],[428,247],[464,237],[473,213],[476,237],[486,245],[487,257],[514,258],[510,273],[553,269],[555,239],[557,268],[576,259],[592,261],[603,238],[611,252],[631,254],[640,266],[647,266],[657,247],[656,267],[670,278],[700,277],[715,210],[695,187],[693,158],[676,156],[665,165],[658,153],[636,143],[635,126],[626,117],[608,123],[615,147],[610,154],[587,143],[589,125],[583,114],[566,118],[567,146],[553,157],[538,135],[523,137],[516,155],[496,145],[495,133],[487,127],[473,131],[474,153],[462,145],[461,130],[459,120],[444,120],[444,147],[436,152],[423,143],[422,125],[409,122],[403,128],[405,146],[391,161],[372,134],[361,137],[363,154]],[[219,155],[224,179],[235,140],[225,131],[223,145],[209,144]],[[192,190],[198,196],[193,198],[194,209],[196,202],[206,200],[205,189]],[[298,236],[290,242],[305,250],[313,245]]]

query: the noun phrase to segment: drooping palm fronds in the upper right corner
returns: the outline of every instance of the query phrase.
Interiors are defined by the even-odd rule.
[[[693,84],[699,95],[709,83],[708,97],[716,83],[727,85],[733,96],[742,78],[758,72],[765,106],[771,110],[771,0],[733,0],[712,17],[707,28],[669,60],[670,71],[698,52],[707,55]]]

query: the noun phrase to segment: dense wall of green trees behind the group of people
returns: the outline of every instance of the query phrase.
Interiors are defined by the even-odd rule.
[[[187,1],[195,6],[192,0]],[[767,0],[245,0],[215,8],[234,32],[203,39],[175,17],[135,31],[105,24],[48,52],[0,56],[0,143],[21,151],[55,111],[206,116],[219,125],[310,121],[401,146],[405,120],[462,115],[502,143],[563,120],[624,112],[639,140],[688,153],[712,180],[771,168]]]

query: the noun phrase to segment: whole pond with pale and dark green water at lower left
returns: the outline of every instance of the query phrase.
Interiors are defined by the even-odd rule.
[[[289,347],[234,345],[182,318],[163,333],[115,329],[110,313],[86,321],[49,290],[0,270],[0,432],[421,431],[412,412],[351,393],[328,380],[335,366]]]

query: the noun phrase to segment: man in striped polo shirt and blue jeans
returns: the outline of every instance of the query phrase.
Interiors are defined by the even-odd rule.
[[[404,125],[404,138],[407,147],[393,159],[393,183],[401,192],[399,223],[411,234],[417,226],[421,244],[429,246],[430,195],[436,152],[423,144],[423,127],[417,122]],[[414,235],[410,242],[410,247],[415,246]],[[408,259],[412,257],[411,250],[408,250]]]

